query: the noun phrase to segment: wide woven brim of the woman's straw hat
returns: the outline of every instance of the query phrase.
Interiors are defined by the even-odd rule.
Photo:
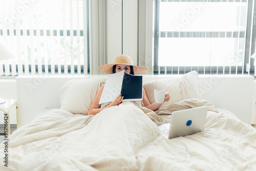
[[[115,63],[115,64],[106,64],[106,65],[103,65],[103,66],[100,66],[98,68],[98,70],[106,73],[106,74],[113,74],[113,70],[112,70],[112,67],[114,65],[117,65],[117,64],[122,64],[122,65],[128,65],[128,66],[133,66],[133,71],[134,71],[134,74],[142,74],[142,73],[145,73],[147,72],[148,68],[147,67],[139,67],[139,66],[134,66],[134,65],[129,65],[127,63]]]

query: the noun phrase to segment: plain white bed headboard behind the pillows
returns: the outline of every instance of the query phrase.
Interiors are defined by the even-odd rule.
[[[182,75],[143,75],[143,82]],[[60,108],[59,90],[70,79],[106,77],[106,75],[18,76],[17,100],[20,125],[23,126],[45,108]],[[200,96],[215,106],[226,108],[250,124],[254,77],[250,75],[199,75]]]

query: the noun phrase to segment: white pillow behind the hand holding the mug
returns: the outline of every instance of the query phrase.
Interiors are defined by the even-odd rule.
[[[161,106],[188,98],[199,98],[199,81],[197,71],[191,71],[181,77],[156,79],[143,83],[150,103],[155,102],[154,90],[165,90],[170,94],[170,100]]]

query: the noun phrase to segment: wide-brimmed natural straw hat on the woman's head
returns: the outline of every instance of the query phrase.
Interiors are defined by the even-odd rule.
[[[133,66],[134,74],[142,74],[148,70],[146,67],[138,67],[133,65],[133,60],[130,56],[127,55],[118,55],[114,58],[114,61],[112,64],[106,64],[103,66],[100,66],[98,70],[103,71],[107,74],[113,74],[112,67],[117,64],[123,64],[123,65],[129,65]]]

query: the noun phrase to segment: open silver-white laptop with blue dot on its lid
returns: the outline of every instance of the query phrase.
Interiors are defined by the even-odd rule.
[[[207,111],[208,106],[201,106],[173,112],[169,130],[162,134],[171,139],[203,131]]]

